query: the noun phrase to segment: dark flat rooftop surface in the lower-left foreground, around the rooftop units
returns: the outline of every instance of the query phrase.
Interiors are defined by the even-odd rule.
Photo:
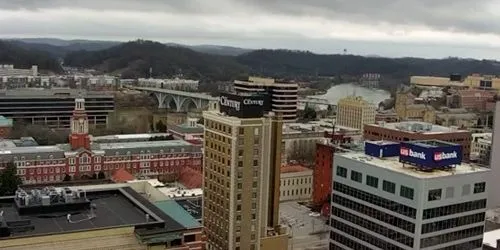
[[[93,212],[96,217],[89,219],[90,210],[72,211],[71,221],[68,221],[66,217],[69,212],[20,215],[15,208],[13,198],[1,199],[0,210],[4,211],[7,223],[29,220],[33,228],[15,230],[10,237],[0,238],[0,240],[147,224],[163,224],[169,230],[184,229],[181,224],[129,187],[87,191],[87,198],[91,204],[94,204]],[[146,219],[146,214],[149,214],[149,219]]]

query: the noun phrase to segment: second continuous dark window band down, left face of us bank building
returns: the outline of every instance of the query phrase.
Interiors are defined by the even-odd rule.
[[[368,216],[370,218],[374,218],[376,220],[385,222],[387,224],[401,228],[401,229],[408,231],[410,233],[415,232],[415,224],[413,224],[412,222],[409,222],[409,221],[400,219],[396,216],[392,216],[390,214],[381,212],[377,209],[374,209],[373,207],[365,206],[363,204],[357,203],[355,201],[351,201],[349,199],[346,199],[346,198],[338,196],[338,195],[333,195],[332,201],[333,201],[333,203],[336,203],[340,206],[351,209],[351,210],[356,211],[356,212],[361,213],[361,214],[365,214],[366,216]],[[331,211],[335,211],[336,209],[338,209],[338,208],[332,207]]]

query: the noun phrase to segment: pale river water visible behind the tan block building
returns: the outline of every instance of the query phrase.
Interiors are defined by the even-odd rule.
[[[337,103],[340,99],[354,94],[356,96],[362,96],[363,99],[377,106],[381,101],[390,97],[390,93],[385,90],[361,87],[351,83],[335,85],[331,87],[326,94],[314,97],[324,98],[333,103]]]

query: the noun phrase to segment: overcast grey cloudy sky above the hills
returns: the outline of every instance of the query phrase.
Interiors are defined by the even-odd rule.
[[[500,59],[498,0],[0,0],[0,36]]]

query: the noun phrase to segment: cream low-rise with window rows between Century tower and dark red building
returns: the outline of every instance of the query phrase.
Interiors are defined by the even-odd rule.
[[[313,170],[302,166],[281,167],[280,202],[307,201],[312,194]]]

